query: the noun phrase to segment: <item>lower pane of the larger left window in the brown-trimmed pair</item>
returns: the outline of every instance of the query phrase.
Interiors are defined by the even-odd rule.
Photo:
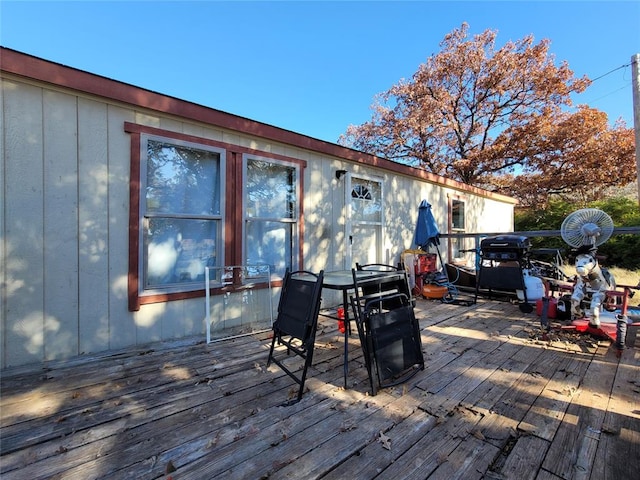
[[[149,218],[145,225],[145,287],[204,281],[216,265],[217,220]]]

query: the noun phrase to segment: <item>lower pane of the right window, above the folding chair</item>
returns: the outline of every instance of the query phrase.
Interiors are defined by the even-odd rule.
[[[247,265],[269,265],[271,272],[284,275],[291,267],[293,224],[247,221]]]

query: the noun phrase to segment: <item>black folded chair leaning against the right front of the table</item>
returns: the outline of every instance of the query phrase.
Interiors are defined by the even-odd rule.
[[[398,385],[424,370],[420,327],[413,304],[406,293],[382,292],[379,296],[361,296],[360,291],[364,291],[364,288],[359,286],[355,272],[354,270],[355,289],[351,304],[364,352],[371,394],[375,395],[379,388]],[[380,282],[384,282],[384,279]],[[374,285],[367,280],[365,286],[370,289]]]

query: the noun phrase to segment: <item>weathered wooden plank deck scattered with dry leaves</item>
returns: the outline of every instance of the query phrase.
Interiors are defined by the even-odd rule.
[[[150,345],[2,375],[3,480],[639,479],[640,343],[539,339],[506,302],[419,300],[426,368],[367,394],[321,319],[302,401],[269,335]],[[632,332],[635,336],[635,332]],[[300,362],[292,357],[292,364]]]

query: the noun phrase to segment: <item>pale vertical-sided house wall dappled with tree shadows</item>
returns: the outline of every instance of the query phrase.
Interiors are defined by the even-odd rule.
[[[125,122],[305,160],[303,265],[310,270],[350,268],[344,181],[336,179],[337,169],[384,179],[385,260],[397,262],[412,248],[423,198],[433,205],[443,232],[452,194],[469,202],[470,231],[513,228],[513,202],[504,197],[478,196],[11,73],[3,73],[0,108],[2,369],[204,335],[204,298],[128,309],[131,142]],[[273,295],[275,305],[277,289]],[[337,297],[323,297],[337,303]],[[258,303],[270,308],[264,299]],[[213,316],[231,325],[234,315],[248,315],[242,304],[238,298],[214,298]],[[217,325],[224,328],[225,322]]]

